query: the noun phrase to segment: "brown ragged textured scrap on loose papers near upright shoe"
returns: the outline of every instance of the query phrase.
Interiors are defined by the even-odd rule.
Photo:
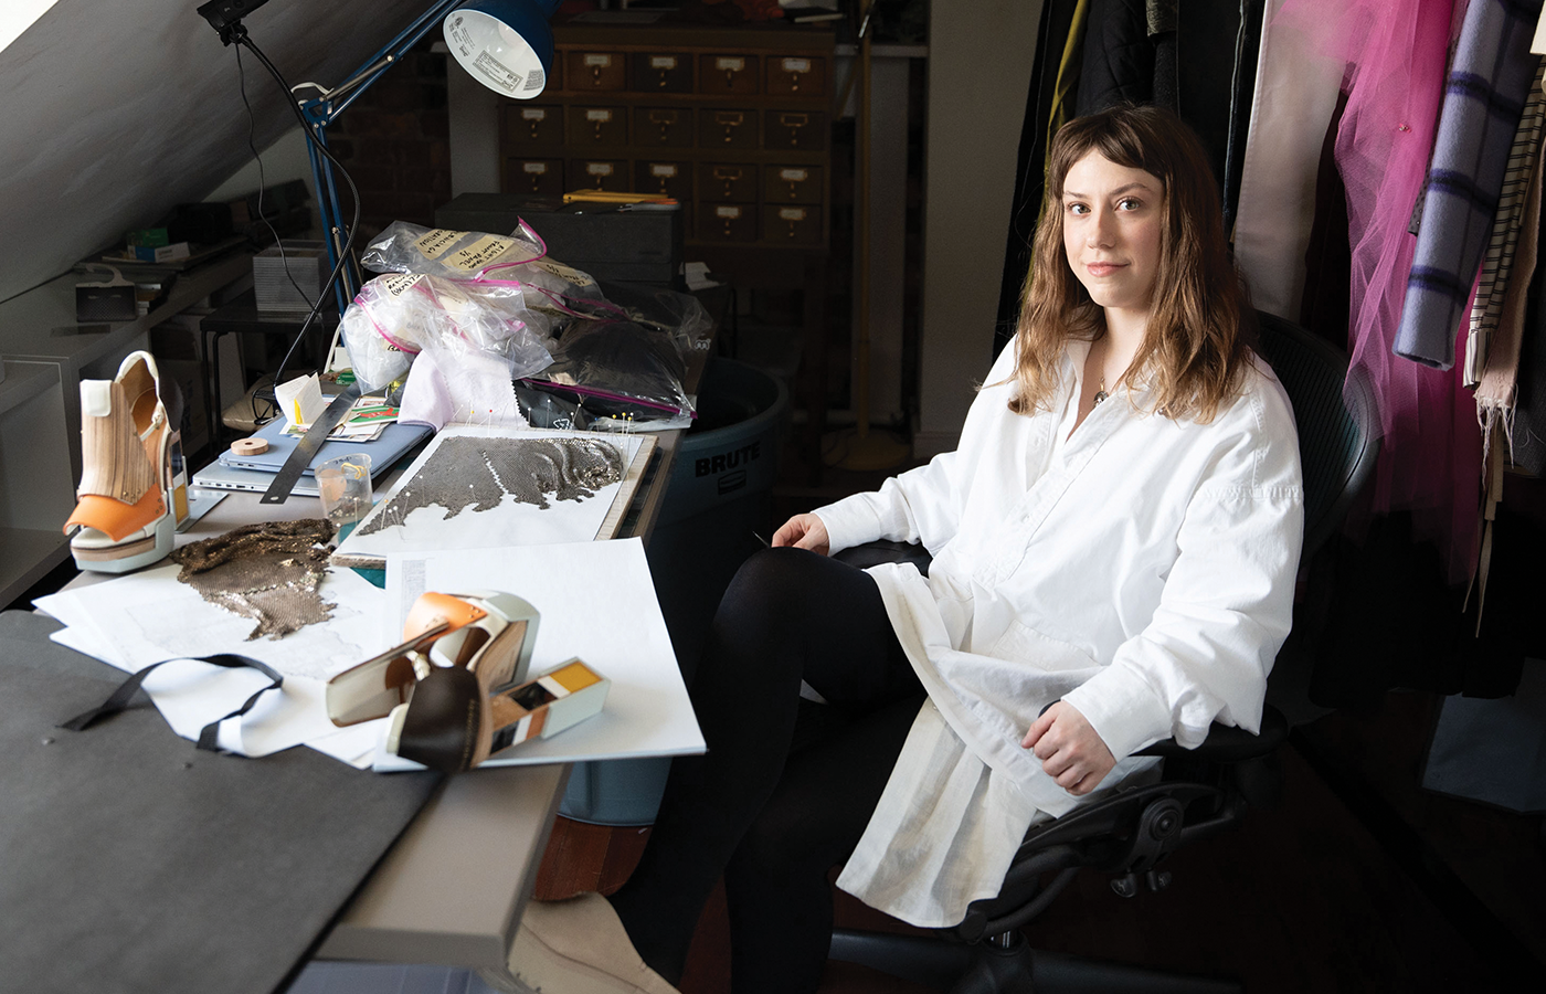
[[[328,570],[332,523],[323,518],[244,524],[172,552],[178,580],[199,597],[258,623],[258,635],[283,638],[332,617],[317,586]]]

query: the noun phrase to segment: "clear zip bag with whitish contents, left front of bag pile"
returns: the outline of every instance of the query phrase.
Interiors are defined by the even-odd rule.
[[[377,277],[360,288],[343,314],[343,343],[354,376],[380,390],[408,371],[422,349],[496,357],[509,379],[547,368],[550,318],[526,305],[519,286],[442,280],[433,275]]]

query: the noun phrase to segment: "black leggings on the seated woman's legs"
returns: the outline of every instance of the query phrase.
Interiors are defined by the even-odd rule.
[[[801,679],[832,706],[802,702]],[[612,906],[676,983],[724,873],[736,994],[815,991],[832,937],[827,873],[864,832],[923,686],[869,574],[768,549],[719,603],[691,694],[708,754],[671,764]]]

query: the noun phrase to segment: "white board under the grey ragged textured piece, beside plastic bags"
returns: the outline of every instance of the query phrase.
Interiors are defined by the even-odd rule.
[[[376,509],[360,523],[366,527],[379,515],[385,513],[391,499],[407,485],[414,475],[448,437],[584,437],[617,445],[623,450],[623,465],[628,467],[634,453],[643,441],[637,436],[597,436],[577,431],[538,431],[518,428],[476,428],[448,427],[434,436],[434,441],[414,459],[413,465],[386,492]],[[433,555],[451,549],[487,549],[490,546],[536,546],[553,543],[584,543],[591,541],[601,530],[606,515],[612,507],[621,482],[611,484],[595,492],[595,496],[581,501],[558,501],[549,495],[546,510],[533,504],[523,504],[506,495],[499,507],[485,512],[465,509],[455,518],[445,516],[442,507],[414,509],[407,521],[393,524],[371,535],[360,535],[356,529],[346,540],[339,543],[340,557],[377,557],[385,558],[393,553],[424,553]]]

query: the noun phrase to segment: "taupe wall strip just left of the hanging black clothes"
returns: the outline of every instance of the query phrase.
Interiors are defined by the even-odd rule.
[[[934,0],[914,454],[955,447],[988,374],[1042,0]]]

